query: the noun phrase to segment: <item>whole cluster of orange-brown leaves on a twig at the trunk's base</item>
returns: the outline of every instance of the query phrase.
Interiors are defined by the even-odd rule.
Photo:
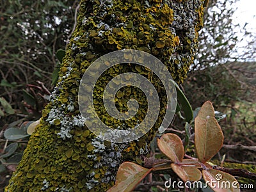
[[[179,136],[172,133],[164,134],[157,139],[157,145],[172,163],[160,166],[154,164],[152,168],[148,169],[135,163],[125,162],[118,169],[115,186],[109,189],[108,192],[132,191],[148,173],[166,169],[172,169],[183,182],[198,181],[203,177],[214,191],[239,191],[239,184],[232,175],[214,170],[211,164],[207,163],[222,147],[223,138],[220,125],[215,118],[213,106],[211,102],[207,101],[195,118],[197,159],[193,157],[184,159],[184,147]],[[237,186],[230,186],[230,188],[212,187],[212,182],[230,182],[230,184],[236,183]]]

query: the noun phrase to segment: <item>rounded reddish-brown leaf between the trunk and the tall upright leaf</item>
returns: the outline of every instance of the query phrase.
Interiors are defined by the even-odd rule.
[[[169,157],[174,163],[180,163],[184,157],[184,147],[179,136],[166,133],[157,139],[157,145],[164,155]]]

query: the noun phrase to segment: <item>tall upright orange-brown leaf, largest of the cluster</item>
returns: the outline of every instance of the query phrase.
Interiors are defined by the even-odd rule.
[[[212,103],[207,101],[195,118],[195,148],[199,161],[205,163],[211,159],[222,147],[223,139]]]

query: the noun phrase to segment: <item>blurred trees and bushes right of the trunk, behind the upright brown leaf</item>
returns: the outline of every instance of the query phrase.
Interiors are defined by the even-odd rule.
[[[209,1],[195,62],[181,86],[193,109],[211,100],[214,109],[227,114],[220,122],[225,144],[255,146],[256,31],[232,22],[237,1]],[[220,161],[221,154],[225,161],[256,162],[252,151],[223,148]]]

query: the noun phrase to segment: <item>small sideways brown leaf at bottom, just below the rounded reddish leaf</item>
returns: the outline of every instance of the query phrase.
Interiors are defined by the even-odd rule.
[[[198,168],[196,168],[195,166],[182,166],[175,163],[172,163],[171,166],[173,172],[175,172],[184,182],[188,180],[200,180],[202,177],[200,170],[198,170]]]

